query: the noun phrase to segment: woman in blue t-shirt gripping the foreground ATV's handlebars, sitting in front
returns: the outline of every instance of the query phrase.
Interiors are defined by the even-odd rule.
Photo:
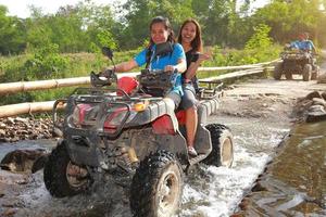
[[[171,50],[166,53],[158,53],[158,44],[170,43]],[[165,93],[164,101],[175,110],[184,94],[181,87],[181,74],[186,71],[186,55],[183,47],[175,42],[174,33],[167,18],[156,16],[150,23],[150,44],[138,53],[133,60],[115,65],[111,69],[115,72],[128,72],[146,64],[150,71],[164,69],[164,72],[178,72],[174,87]],[[149,92],[150,93],[150,92]]]

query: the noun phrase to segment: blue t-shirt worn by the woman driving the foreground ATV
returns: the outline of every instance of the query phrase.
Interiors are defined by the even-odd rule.
[[[177,65],[178,60],[184,59],[186,60],[185,51],[179,43],[174,43],[173,51],[171,54],[164,56],[154,56],[156,46],[154,44],[152,48],[152,56],[150,58],[149,69],[164,69],[166,65]],[[146,64],[146,54],[148,49],[143,49],[140,53],[135,56],[135,61],[138,66],[142,66]],[[183,73],[183,72],[181,72]],[[175,86],[172,89],[173,92],[176,92],[180,95],[184,94],[183,92],[183,82],[181,82],[181,75],[178,74],[176,77]]]

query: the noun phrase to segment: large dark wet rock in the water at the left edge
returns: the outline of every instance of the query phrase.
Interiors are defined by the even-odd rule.
[[[47,155],[46,150],[41,149],[15,150],[3,157],[0,167],[1,169],[16,173],[35,173],[43,167]]]

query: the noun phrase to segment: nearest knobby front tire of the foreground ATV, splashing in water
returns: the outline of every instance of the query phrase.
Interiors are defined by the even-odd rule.
[[[165,217],[177,212],[184,176],[174,154],[159,150],[140,162],[130,187],[134,217]]]

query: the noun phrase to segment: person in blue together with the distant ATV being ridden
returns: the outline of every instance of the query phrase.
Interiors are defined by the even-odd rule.
[[[274,68],[275,79],[279,80],[283,74],[287,79],[292,79],[292,74],[302,75],[304,81],[317,79],[319,67],[315,64],[315,47],[306,33],[300,34],[299,39],[286,46],[280,53],[281,62]]]

